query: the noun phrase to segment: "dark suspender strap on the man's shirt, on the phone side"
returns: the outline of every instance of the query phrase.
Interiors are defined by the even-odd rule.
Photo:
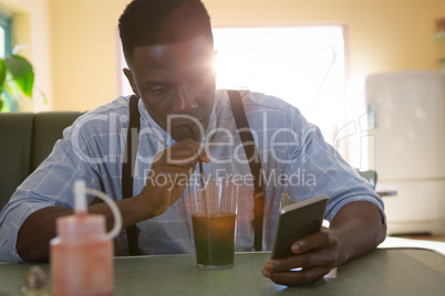
[[[265,211],[265,193],[262,182],[262,168],[253,136],[250,131],[249,124],[246,118],[245,108],[242,106],[241,95],[238,91],[227,91],[230,99],[230,107],[234,113],[235,123],[237,124],[238,135],[241,138],[242,146],[247,159],[249,161],[250,171],[253,175],[253,229],[255,229],[255,251],[262,249],[262,220]]]

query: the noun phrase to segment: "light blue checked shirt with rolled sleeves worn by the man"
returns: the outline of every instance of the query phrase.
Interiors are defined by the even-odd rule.
[[[288,103],[259,93],[241,92],[246,116],[259,150],[266,204],[263,250],[271,250],[280,195],[293,200],[328,194],[325,219],[331,221],[346,203],[369,201],[382,213],[383,202],[327,144],[319,128],[308,123]],[[0,214],[0,261],[20,262],[17,235],[23,221],[45,207],[73,208],[73,182],[84,179],[87,187],[122,199],[122,155],[128,128],[128,96],[118,97],[86,113],[63,131],[51,155],[29,176]],[[146,181],[159,181],[151,175],[154,156],[175,141],[148,115],[139,101],[141,133],[134,171],[133,192]],[[216,91],[209,126],[201,144],[211,157],[204,163],[206,178],[240,178],[237,220],[237,251],[253,249],[252,178],[225,89]],[[137,223],[139,247],[145,254],[194,253],[192,215],[187,190],[164,214]],[[89,197],[90,202],[93,197]],[[125,231],[115,239],[116,255],[128,254]]]

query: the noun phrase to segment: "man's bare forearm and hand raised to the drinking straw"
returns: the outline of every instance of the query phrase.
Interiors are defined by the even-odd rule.
[[[164,213],[183,194],[190,170],[195,169],[199,159],[210,161],[204,147],[193,140],[183,140],[159,152],[152,166],[153,182],[148,176],[138,195],[116,201],[122,213],[123,229]],[[156,176],[162,177],[156,179]],[[20,257],[32,262],[48,261],[49,242],[55,236],[55,220],[72,212],[72,209],[68,208],[49,207],[30,214],[17,239],[17,252]],[[113,213],[105,203],[90,205],[89,212],[105,215],[107,229],[113,226]]]

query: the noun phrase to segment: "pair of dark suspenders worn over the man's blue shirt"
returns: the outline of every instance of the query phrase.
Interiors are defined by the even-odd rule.
[[[235,123],[238,128],[238,135],[242,141],[247,159],[249,161],[250,171],[253,176],[253,229],[255,229],[255,251],[261,251],[262,247],[262,220],[265,209],[265,194],[262,182],[261,160],[253,137],[250,133],[249,124],[247,123],[246,113],[242,106],[242,99],[238,91],[228,91],[230,107],[234,113]],[[139,110],[137,108],[138,98],[132,96],[130,98],[130,126],[127,140],[125,146],[124,161],[122,166],[122,195],[124,199],[133,197],[133,172],[136,161],[136,152],[138,145],[138,135],[141,129]],[[131,151],[131,152],[130,152]],[[132,159],[128,159],[128,158]],[[139,249],[137,245],[138,230],[136,225],[131,225],[126,229],[128,241],[128,250],[131,255],[138,255]]]

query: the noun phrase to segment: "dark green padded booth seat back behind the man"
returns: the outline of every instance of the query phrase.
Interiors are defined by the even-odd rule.
[[[0,210],[80,112],[0,113]]]

